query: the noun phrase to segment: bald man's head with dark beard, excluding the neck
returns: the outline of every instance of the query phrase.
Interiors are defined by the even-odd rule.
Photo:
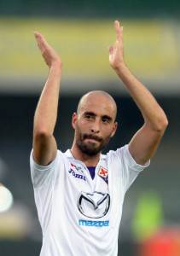
[[[72,121],[78,149],[91,156],[101,152],[117,129],[116,114],[116,103],[107,92],[93,90],[82,96]]]

